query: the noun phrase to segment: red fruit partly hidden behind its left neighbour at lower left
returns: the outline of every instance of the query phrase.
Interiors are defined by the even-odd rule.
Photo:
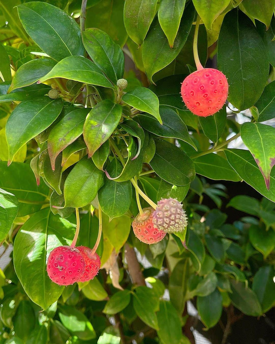
[[[86,246],[78,246],[77,249],[82,254],[85,261],[85,270],[78,282],[87,282],[93,279],[99,272],[101,261],[99,256],[95,253],[91,255],[92,250]]]

